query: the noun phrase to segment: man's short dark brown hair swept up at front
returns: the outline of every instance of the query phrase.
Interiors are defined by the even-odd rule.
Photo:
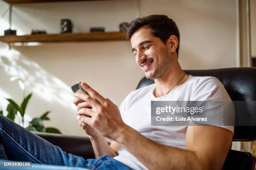
[[[166,15],[148,15],[143,18],[136,18],[136,20],[133,20],[126,28],[126,38],[130,40],[133,33],[141,27],[151,28],[152,35],[159,37],[164,43],[167,42],[171,35],[175,35],[179,42],[179,28],[176,23]],[[179,44],[176,52],[178,55]]]

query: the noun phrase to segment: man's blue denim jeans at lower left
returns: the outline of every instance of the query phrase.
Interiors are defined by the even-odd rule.
[[[34,135],[3,115],[0,115],[0,160],[2,162],[3,160],[31,161],[33,169],[38,170],[45,167],[51,169],[49,165],[93,170],[131,170],[127,165],[108,155],[98,159],[85,160],[82,157],[66,153],[58,146]],[[47,166],[49,167],[47,168]]]

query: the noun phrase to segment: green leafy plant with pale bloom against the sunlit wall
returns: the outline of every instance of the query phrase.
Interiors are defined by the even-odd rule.
[[[20,88],[23,90],[23,101],[21,105],[19,106],[14,100],[12,99],[6,99],[8,100],[9,104],[6,108],[8,114],[6,117],[10,120],[15,119],[16,115],[18,115],[20,124],[24,127],[24,115],[26,111],[26,107],[28,105],[28,101],[30,100],[32,93],[26,96],[25,94],[25,84],[23,80],[20,77],[11,77],[10,81],[18,80]],[[29,122],[29,126],[26,128],[29,131],[36,131],[36,132],[46,132],[46,133],[61,133],[56,128],[51,127],[44,127],[43,120],[50,120],[50,118],[47,116],[50,111],[45,112],[40,117],[35,117]],[[19,113],[19,114],[18,114]],[[0,115],[3,115],[3,110],[0,110]],[[16,119],[17,120],[17,119]]]

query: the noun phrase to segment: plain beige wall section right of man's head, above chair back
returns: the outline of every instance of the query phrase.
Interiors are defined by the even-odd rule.
[[[141,16],[153,13],[177,23],[184,69],[236,67],[235,0],[141,0]]]

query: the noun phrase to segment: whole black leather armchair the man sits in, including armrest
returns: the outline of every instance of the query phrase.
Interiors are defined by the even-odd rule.
[[[238,67],[223,68],[214,70],[185,70],[193,76],[217,77],[228,91],[233,101],[255,101],[256,100],[256,68]],[[137,88],[154,83],[145,77],[139,82]],[[243,114],[243,112],[236,112]],[[251,112],[254,115],[256,112]],[[94,158],[92,145],[89,138],[56,135],[49,133],[36,133],[54,145],[58,145],[67,153],[82,156],[85,159]],[[233,141],[254,141],[256,140],[256,126],[235,126]],[[218,156],[218,155],[216,155]],[[254,170],[256,157],[248,152],[229,150],[223,169]]]

